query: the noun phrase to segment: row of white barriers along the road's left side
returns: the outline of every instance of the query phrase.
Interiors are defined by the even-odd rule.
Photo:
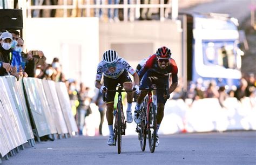
[[[26,142],[34,146],[35,137],[40,142],[45,135],[61,139],[78,132],[64,83],[4,76],[0,93],[0,162],[23,150]]]

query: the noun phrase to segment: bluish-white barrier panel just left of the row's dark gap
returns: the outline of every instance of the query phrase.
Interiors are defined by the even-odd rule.
[[[10,93],[15,102],[15,106],[18,112],[18,117],[21,120],[24,133],[26,135],[26,140],[33,139],[33,132],[31,128],[31,123],[29,120],[28,109],[26,108],[26,100],[24,98],[24,92],[21,88],[22,81],[17,81],[15,77],[5,77],[8,81]]]

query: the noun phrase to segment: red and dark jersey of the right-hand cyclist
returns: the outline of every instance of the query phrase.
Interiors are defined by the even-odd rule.
[[[147,72],[153,72],[156,73],[158,77],[163,77],[164,75],[169,75],[169,73],[172,73],[172,82],[177,83],[178,82],[178,67],[176,65],[176,62],[174,59],[170,58],[169,65],[162,69],[158,66],[157,56],[156,54],[153,54],[147,61],[144,67],[139,71],[138,75],[140,78],[143,77],[143,75]]]

